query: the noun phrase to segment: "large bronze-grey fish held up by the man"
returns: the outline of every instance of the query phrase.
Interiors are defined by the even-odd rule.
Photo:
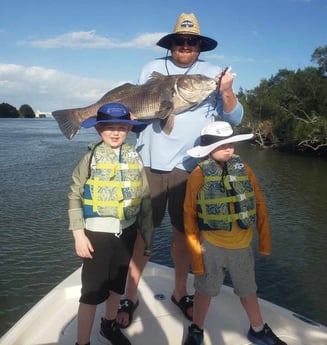
[[[214,79],[200,74],[165,76],[153,72],[143,85],[123,84],[107,92],[96,103],[84,108],[56,110],[52,112],[62,133],[72,139],[81,122],[97,114],[105,103],[125,104],[138,120],[161,119],[161,128],[167,134],[174,126],[174,116],[195,108],[216,89]]]

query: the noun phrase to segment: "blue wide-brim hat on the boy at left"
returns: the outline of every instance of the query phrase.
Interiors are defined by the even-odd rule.
[[[102,105],[97,116],[90,117],[81,123],[83,128],[91,128],[98,123],[126,123],[133,126],[131,131],[139,133],[145,129],[145,122],[131,120],[128,108],[121,103],[107,103]]]

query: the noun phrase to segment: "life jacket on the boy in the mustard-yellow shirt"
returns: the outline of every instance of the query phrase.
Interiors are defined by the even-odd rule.
[[[204,185],[197,196],[199,229],[230,231],[235,221],[242,229],[253,226],[255,196],[240,157],[233,155],[224,166],[211,158],[199,165],[204,176]],[[234,204],[233,213],[230,204]]]

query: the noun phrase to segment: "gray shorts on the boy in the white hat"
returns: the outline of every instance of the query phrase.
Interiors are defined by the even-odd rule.
[[[217,296],[228,271],[236,295],[247,297],[257,291],[251,247],[225,249],[202,239],[202,250],[205,274],[195,276],[195,290],[208,296]]]

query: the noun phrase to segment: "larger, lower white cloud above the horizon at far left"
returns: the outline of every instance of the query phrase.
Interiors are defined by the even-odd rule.
[[[121,83],[119,83],[121,84]],[[94,103],[117,84],[54,69],[0,63],[0,103],[52,112]]]

